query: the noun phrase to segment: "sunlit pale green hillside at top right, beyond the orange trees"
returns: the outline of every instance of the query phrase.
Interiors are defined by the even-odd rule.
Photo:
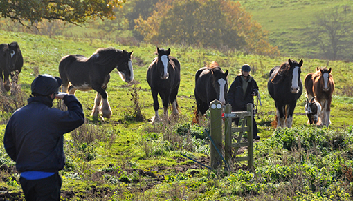
[[[316,15],[338,8],[339,12],[347,9],[352,15],[353,1],[341,0],[240,0],[253,19],[264,30],[269,31],[270,43],[278,46],[281,54],[287,57],[316,57],[320,50],[308,44],[305,32],[311,28]]]

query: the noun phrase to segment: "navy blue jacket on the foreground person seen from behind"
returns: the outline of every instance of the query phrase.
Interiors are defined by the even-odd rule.
[[[63,135],[84,123],[82,105],[66,95],[67,111],[51,108],[48,97],[32,97],[13,113],[3,137],[6,152],[24,171],[57,172],[64,168]]]

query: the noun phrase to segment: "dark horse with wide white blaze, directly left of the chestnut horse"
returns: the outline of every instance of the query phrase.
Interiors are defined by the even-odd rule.
[[[277,127],[291,128],[294,108],[302,95],[301,66],[302,60],[298,63],[288,59],[287,62],[273,67],[269,72],[267,89],[272,99],[275,100],[276,119],[279,118]]]

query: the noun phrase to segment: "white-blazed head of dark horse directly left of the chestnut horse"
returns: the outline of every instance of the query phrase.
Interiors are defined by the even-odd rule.
[[[300,73],[302,70],[300,69],[302,67],[302,59],[297,61],[288,59],[288,65],[287,65],[287,75],[291,77],[291,93],[299,93],[300,91]]]

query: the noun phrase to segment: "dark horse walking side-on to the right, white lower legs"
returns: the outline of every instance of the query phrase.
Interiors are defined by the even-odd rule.
[[[92,116],[111,117],[111,108],[108,94],[105,91],[114,68],[125,82],[134,79],[131,61],[132,52],[116,50],[115,48],[98,48],[91,57],[83,55],[66,55],[59,64],[59,73],[62,78],[62,91],[75,94],[76,90],[96,90]],[[70,84],[70,86],[69,86]],[[100,102],[102,100],[102,107]]]

